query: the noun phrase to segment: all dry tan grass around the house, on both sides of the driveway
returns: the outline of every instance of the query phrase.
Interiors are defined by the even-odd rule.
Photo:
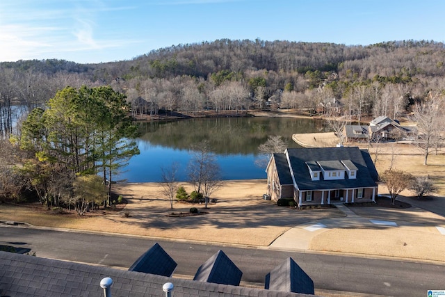
[[[367,148],[367,147],[363,147]],[[371,156],[375,147],[370,148]],[[412,175],[429,175],[439,187],[437,195],[445,195],[445,154],[430,155],[428,166],[423,166],[423,155],[416,147],[379,145],[376,167],[379,172],[393,168]],[[190,193],[193,188],[184,184]],[[104,216],[45,214],[41,209],[0,204],[0,220],[26,222],[36,226],[70,228],[120,234],[152,236],[193,241],[208,241],[245,246],[269,246],[287,230],[323,218],[342,218],[337,209],[308,209],[305,211],[277,207],[262,199],[266,180],[227,181],[212,195],[216,203],[204,209],[203,204],[170,202],[159,192],[159,184],[118,184],[114,188],[127,198],[122,211]],[[387,193],[380,185],[379,193]],[[410,196],[410,191],[401,195]],[[197,207],[208,214],[189,217],[170,217],[172,212],[188,212]],[[124,217],[124,211],[130,216]],[[398,227],[375,227],[369,221],[365,227],[333,228],[316,234],[309,244],[311,250],[363,253],[445,261],[445,236],[435,226],[445,227],[443,216],[420,209],[355,209],[364,220],[393,219],[405,222]],[[298,239],[296,239],[298,240]]]

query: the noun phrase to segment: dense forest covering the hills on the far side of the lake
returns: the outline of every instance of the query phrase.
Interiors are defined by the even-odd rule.
[[[0,138],[65,86],[111,86],[133,115],[159,112],[298,109],[398,118],[415,102],[442,95],[442,42],[369,46],[216,40],[150,51],[131,61],[0,63]],[[17,107],[19,106],[19,107]],[[320,108],[320,106],[322,106]]]

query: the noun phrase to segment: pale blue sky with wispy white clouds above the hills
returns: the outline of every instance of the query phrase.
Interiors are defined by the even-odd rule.
[[[131,60],[218,39],[444,42],[443,0],[1,0],[0,61]]]

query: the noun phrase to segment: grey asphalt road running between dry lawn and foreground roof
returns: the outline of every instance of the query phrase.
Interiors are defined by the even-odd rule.
[[[173,276],[193,278],[197,268],[221,249],[243,271],[242,282],[262,285],[270,270],[287,257],[292,257],[314,280],[316,289],[381,296],[426,296],[428,289],[445,289],[445,264],[0,227],[0,245],[31,248],[38,257],[121,268],[131,266],[155,242],[177,262]]]

